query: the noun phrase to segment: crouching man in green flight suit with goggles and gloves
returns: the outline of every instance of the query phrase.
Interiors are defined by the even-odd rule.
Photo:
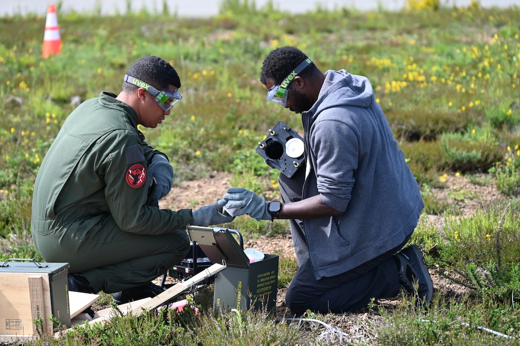
[[[146,56],[126,71],[121,93],[102,92],[64,121],[36,177],[31,230],[47,262],[68,262],[69,290],[114,293],[125,303],[164,289],[151,281],[189,251],[186,226],[231,222],[226,204],[159,209],[172,187],[166,155],[137,125],[155,128],[182,97],[167,61]]]

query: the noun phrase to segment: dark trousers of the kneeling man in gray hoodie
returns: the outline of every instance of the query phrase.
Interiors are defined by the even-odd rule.
[[[305,167],[300,168],[292,178],[280,174],[279,188],[283,201],[301,199],[304,178]],[[303,236],[302,220],[290,220],[290,224],[299,265],[285,296],[285,303],[291,312],[343,313],[366,307],[372,298],[390,298],[398,294],[399,277],[392,255],[405,246],[409,238],[395,249],[352,270],[316,280],[306,253],[306,242],[298,240],[300,238],[297,236]],[[303,250],[300,250],[302,247]]]

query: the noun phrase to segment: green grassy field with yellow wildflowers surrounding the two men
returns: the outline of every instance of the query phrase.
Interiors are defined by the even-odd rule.
[[[384,322],[365,342],[518,344],[520,10],[482,9],[475,2],[467,8],[413,8],[366,13],[317,8],[293,15],[272,3],[257,8],[254,2],[227,0],[217,16],[190,19],[168,14],[167,7],[160,14],[102,17],[62,12],[58,5],[63,49],[48,59],[41,57],[45,18],[2,18],[1,259],[42,260],[30,235],[32,189],[47,149],[75,108],[71,99],[119,92],[127,66],[148,54],[170,61],[182,82],[184,98],[172,114],[158,129],[142,129],[170,157],[176,182],[225,171],[232,185],[275,197],[277,171],[255,147],[278,121],[300,132],[301,123],[265,101],[259,70],[271,49],[295,45],[323,71],[344,68],[371,80],[421,187],[423,217],[445,220],[443,232],[421,222],[412,242],[423,248],[428,263],[439,264],[440,273],[468,289],[457,297],[437,290],[426,313],[406,298],[391,309],[372,302],[370,314]],[[445,174],[456,172],[474,183],[496,184],[502,200],[461,217],[432,194],[432,188],[445,187]],[[461,190],[448,195],[460,203],[473,198]],[[248,237],[287,233],[289,224],[242,217],[232,228]],[[280,288],[287,287],[296,267],[280,260]],[[202,312],[197,317],[167,318],[165,311],[117,316],[106,326],[35,344],[319,343],[316,329],[277,324],[262,312],[214,316],[211,292],[206,296],[194,300]]]

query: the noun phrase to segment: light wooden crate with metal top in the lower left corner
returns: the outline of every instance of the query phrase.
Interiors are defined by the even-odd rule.
[[[37,336],[33,320],[38,317],[47,335],[54,335],[50,316],[71,326],[68,268],[68,263],[28,259],[9,259],[0,266],[0,342]]]

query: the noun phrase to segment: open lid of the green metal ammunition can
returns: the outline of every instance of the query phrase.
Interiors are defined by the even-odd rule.
[[[226,228],[189,226],[188,234],[211,262],[249,268],[249,258]]]

